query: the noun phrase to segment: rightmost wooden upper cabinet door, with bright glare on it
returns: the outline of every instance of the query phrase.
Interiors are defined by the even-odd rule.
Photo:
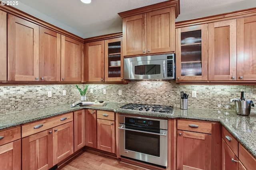
[[[237,19],[237,78],[256,80],[256,16]]]

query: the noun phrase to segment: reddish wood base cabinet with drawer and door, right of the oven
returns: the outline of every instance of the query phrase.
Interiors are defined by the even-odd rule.
[[[221,127],[218,123],[178,120],[177,169],[220,169]]]

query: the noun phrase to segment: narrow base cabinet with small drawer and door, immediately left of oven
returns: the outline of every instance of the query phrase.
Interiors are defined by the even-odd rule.
[[[97,111],[97,148],[115,152],[115,115],[112,111]]]

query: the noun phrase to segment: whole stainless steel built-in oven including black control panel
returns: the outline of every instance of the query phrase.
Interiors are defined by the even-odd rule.
[[[118,129],[121,157],[167,167],[167,120],[119,115]]]

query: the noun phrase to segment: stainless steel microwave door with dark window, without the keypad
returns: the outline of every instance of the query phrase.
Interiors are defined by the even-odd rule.
[[[163,79],[165,60],[131,62],[131,79]]]

